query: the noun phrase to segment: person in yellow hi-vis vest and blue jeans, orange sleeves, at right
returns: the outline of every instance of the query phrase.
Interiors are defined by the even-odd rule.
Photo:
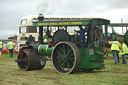
[[[111,51],[115,59],[115,64],[118,64],[119,63],[119,60],[118,60],[119,50],[120,49],[122,50],[121,44],[117,41],[116,38],[113,41],[109,42],[109,44],[111,45]]]

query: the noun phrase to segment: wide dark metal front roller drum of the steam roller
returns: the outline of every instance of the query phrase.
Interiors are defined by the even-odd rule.
[[[46,60],[42,56],[37,55],[34,49],[27,49],[23,51],[22,59],[20,59],[20,54],[16,60],[18,66],[22,70],[40,70],[43,69]]]

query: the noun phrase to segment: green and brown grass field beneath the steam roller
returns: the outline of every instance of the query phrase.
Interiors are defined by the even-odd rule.
[[[103,70],[64,75],[54,70],[51,61],[42,70],[22,71],[15,62],[16,56],[6,54],[0,58],[0,85],[128,85],[128,64],[120,60],[115,65],[112,57],[105,59]]]

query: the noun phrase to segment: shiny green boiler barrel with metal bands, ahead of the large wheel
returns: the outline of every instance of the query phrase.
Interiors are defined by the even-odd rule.
[[[53,47],[49,47],[48,45],[39,45],[38,53],[42,56],[51,56]]]

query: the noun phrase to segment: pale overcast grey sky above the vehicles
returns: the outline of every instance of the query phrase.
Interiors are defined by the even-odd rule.
[[[128,0],[0,0],[0,39],[18,35],[19,21],[28,15],[84,15],[111,23],[128,23]],[[116,31],[121,33],[120,28]]]

